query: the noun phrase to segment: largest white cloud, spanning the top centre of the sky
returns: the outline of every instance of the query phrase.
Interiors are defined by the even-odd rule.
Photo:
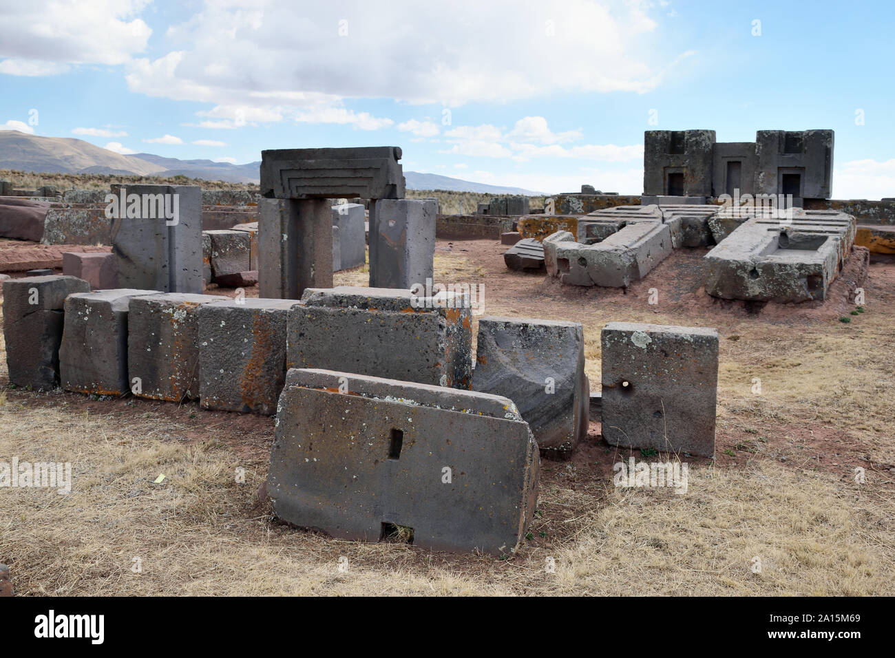
[[[657,29],[652,12],[661,10],[629,0],[457,0],[450,12],[442,4],[413,0],[394,0],[388,12],[361,0],[207,1],[168,28],[165,55],[130,61],[126,81],[130,90],[149,96],[213,104],[204,114],[217,119],[209,127],[231,127],[221,123],[227,120],[294,120],[376,130],[394,123],[352,109],[356,99],[455,107],[569,92],[652,90],[666,63],[678,61],[677,52],[669,52],[673,39],[644,38]],[[500,30],[482,38],[470,16],[476,25]],[[242,118],[230,107],[234,98]],[[253,118],[262,111],[269,114]],[[435,134],[429,126],[417,130]],[[537,126],[519,130],[529,136],[520,134],[518,141],[536,139],[532,143],[541,145],[572,136],[538,132]]]

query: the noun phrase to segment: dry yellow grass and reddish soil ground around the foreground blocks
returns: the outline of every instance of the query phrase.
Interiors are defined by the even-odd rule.
[[[694,303],[675,274],[698,254],[654,272],[667,300],[656,308],[637,287],[567,290],[507,272],[488,241],[449,248],[439,241],[439,276],[484,282],[488,314],[581,321],[595,386],[609,320],[720,329],[717,456],[692,460],[686,494],[613,487],[628,454],[593,425],[573,460],[542,463],[531,535],[509,560],[340,542],[277,523],[257,500],[271,419],[9,389],[0,355],[0,461],[71,461],[74,481],[67,496],[0,489],[0,562],[18,592],[895,594],[895,268],[872,267],[865,313],[846,324],[823,308],[763,318]]]

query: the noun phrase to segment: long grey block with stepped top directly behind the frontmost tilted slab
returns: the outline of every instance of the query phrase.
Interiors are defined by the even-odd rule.
[[[472,313],[461,295],[343,286],[306,290],[302,301],[289,312],[290,368],[469,388]]]

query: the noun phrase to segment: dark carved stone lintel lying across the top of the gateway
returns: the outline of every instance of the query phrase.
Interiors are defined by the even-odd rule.
[[[261,151],[261,193],[276,199],[403,199],[394,146]]]

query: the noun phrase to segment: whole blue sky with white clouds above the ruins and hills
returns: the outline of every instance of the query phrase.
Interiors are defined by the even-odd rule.
[[[405,169],[639,193],[644,130],[836,132],[895,196],[890,2],[0,0],[0,127],[234,163],[396,145]]]

